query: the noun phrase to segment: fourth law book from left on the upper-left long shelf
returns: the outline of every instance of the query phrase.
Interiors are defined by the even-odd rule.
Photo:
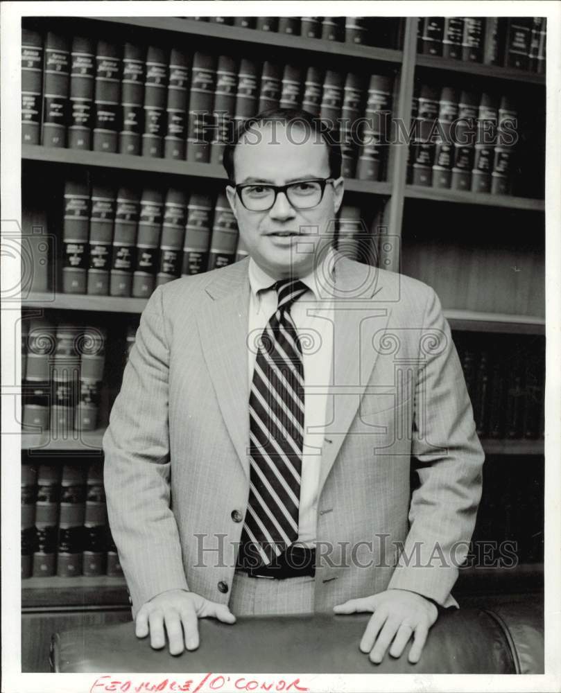
[[[95,118],[92,148],[116,152],[121,111],[121,47],[100,39],[96,48]]]

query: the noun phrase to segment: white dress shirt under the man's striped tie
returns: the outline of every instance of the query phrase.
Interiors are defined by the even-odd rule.
[[[316,540],[318,514],[318,485],[323,441],[327,385],[333,358],[333,299],[325,286],[326,272],[333,268],[333,249],[325,254],[322,265],[305,277],[300,277],[309,288],[291,306],[291,317],[298,336],[302,340],[302,365],[304,367],[304,441],[302,447],[302,481],[300,484],[300,514],[298,541],[313,547]],[[252,346],[263,333],[270,317],[277,310],[277,292],[272,285],[277,281],[270,277],[250,258],[250,306],[248,324],[248,374],[249,386],[257,352]]]

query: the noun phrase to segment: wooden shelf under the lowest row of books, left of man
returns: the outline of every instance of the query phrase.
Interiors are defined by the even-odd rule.
[[[124,577],[30,577],[21,580],[21,608],[127,606]]]

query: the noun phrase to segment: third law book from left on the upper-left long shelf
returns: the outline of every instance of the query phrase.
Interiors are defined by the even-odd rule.
[[[96,47],[91,37],[74,36],[70,53],[70,119],[68,146],[92,148],[92,112],[96,78]]]

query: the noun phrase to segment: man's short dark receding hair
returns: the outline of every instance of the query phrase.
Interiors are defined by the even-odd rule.
[[[236,145],[246,132],[249,132],[254,125],[264,123],[282,123],[287,128],[303,128],[309,137],[322,139],[328,150],[329,155],[329,176],[338,178],[341,175],[341,148],[334,137],[334,133],[327,128],[327,125],[320,118],[308,111],[296,108],[273,108],[262,111],[257,116],[252,116],[243,121],[234,132],[234,137],[226,143],[222,163],[226,169],[228,179],[234,182],[234,152]]]

